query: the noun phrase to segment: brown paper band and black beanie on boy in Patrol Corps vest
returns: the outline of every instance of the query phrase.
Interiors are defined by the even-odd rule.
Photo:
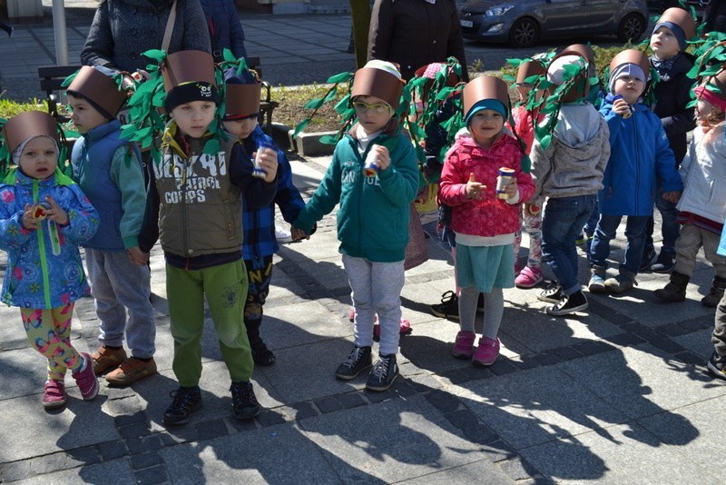
[[[162,64],[166,99],[164,109],[171,112],[180,104],[220,98],[214,77],[214,60],[203,51],[179,51],[169,54]]]

